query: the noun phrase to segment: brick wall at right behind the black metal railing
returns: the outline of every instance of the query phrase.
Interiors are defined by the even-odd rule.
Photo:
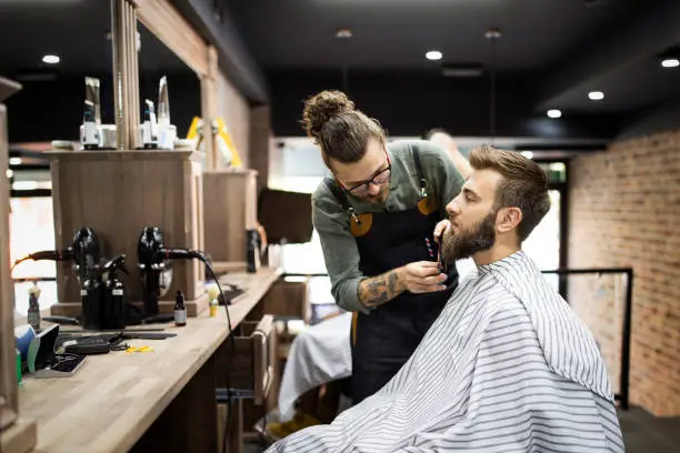
[[[569,266],[633,268],[631,403],[680,415],[680,131],[578,158],[569,181]],[[622,278],[570,280],[614,380],[623,296]]]

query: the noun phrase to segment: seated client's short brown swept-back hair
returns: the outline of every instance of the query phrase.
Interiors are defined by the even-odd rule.
[[[493,170],[501,180],[496,188],[493,212],[502,208],[519,208],[522,220],[517,228],[523,242],[550,210],[548,177],[538,163],[519,152],[499,150],[483,144],[470,153],[474,170]]]

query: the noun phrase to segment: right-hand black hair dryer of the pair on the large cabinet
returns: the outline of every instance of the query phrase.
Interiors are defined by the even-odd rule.
[[[147,315],[158,314],[158,300],[172,283],[172,261],[197,259],[208,262],[203,252],[190,249],[167,249],[163,233],[158,226],[144,226],[137,244],[137,258]]]

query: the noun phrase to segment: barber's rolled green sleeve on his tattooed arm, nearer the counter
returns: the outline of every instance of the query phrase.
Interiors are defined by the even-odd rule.
[[[320,189],[314,193],[312,222],[319,233],[336,303],[346,311],[368,313],[369,309],[359,301],[359,283],[366,275],[359,271],[357,240],[349,231],[347,214],[330,191]]]

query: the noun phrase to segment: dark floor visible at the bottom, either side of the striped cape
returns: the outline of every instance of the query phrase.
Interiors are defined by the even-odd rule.
[[[619,412],[627,453],[680,453],[680,417],[657,419],[639,407]],[[244,453],[259,453],[257,443]]]

